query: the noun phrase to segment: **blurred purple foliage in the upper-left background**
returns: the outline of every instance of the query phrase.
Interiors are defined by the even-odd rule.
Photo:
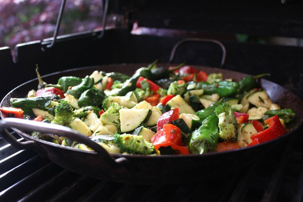
[[[101,28],[102,0],[67,0],[59,35]],[[52,37],[62,0],[0,0],[0,47]]]

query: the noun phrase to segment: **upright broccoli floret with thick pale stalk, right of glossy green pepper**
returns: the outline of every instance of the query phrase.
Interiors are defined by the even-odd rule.
[[[236,140],[238,124],[228,103],[217,106],[215,113],[219,118],[219,137],[225,141]]]

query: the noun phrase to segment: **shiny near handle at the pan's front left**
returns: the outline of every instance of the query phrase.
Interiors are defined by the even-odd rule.
[[[31,121],[25,119],[17,119],[17,118],[5,118],[0,120],[0,130],[6,130],[6,128],[14,127],[21,128],[23,130],[32,130],[32,131],[40,131],[44,133],[54,133],[56,135],[65,136],[72,140],[75,140],[79,143],[83,143],[93,150],[95,150],[106,162],[108,162],[113,167],[121,167],[128,163],[128,160],[124,157],[120,157],[118,159],[113,159],[108,152],[100,146],[98,143],[90,140],[89,138],[81,135],[75,130],[71,128],[60,126],[56,124],[43,123],[38,121]],[[7,130],[6,130],[7,131]],[[5,140],[11,143],[13,146],[17,146],[17,149],[28,149],[35,146],[34,141],[26,141],[26,142],[17,142],[14,136],[10,133],[6,133]],[[16,144],[17,142],[17,144]]]

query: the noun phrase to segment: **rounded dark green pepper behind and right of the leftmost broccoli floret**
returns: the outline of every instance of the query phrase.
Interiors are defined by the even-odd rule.
[[[106,95],[103,91],[96,88],[84,91],[78,99],[79,106],[98,106],[101,105]]]

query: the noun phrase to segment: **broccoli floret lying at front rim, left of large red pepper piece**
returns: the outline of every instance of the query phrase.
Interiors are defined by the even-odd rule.
[[[115,143],[118,145],[121,152],[145,155],[155,153],[155,147],[152,143],[145,141],[142,135],[119,135],[116,133],[114,137]]]

